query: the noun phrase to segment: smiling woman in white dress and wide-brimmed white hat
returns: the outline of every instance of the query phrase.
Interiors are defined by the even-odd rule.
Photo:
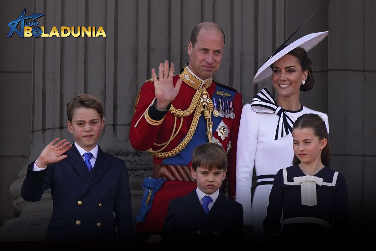
[[[258,70],[253,83],[272,76],[277,99],[267,88],[262,89],[251,104],[243,107],[238,137],[236,196],[243,205],[244,225],[252,226],[256,241],[263,242],[262,221],[267,215],[270,190],[279,169],[291,166],[294,151],[291,128],[305,113],[318,114],[329,131],[327,115],[300,103],[300,91],[312,89],[311,59],[307,52],[327,36],[328,32],[306,35],[274,52]],[[251,206],[252,173],[257,181]],[[250,228],[245,226],[245,229]]]

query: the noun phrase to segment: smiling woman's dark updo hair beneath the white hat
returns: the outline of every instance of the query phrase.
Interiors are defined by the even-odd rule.
[[[280,50],[284,49],[287,45],[281,47],[279,50],[273,53],[277,54]],[[301,47],[296,47],[295,49],[291,50],[287,54],[293,55],[298,59],[300,67],[302,67],[302,71],[308,70],[308,76],[306,79],[306,83],[304,85],[300,85],[300,91],[309,91],[313,88],[313,75],[312,75],[312,60],[308,58],[308,54],[305,49]],[[273,65],[270,66],[273,70]]]

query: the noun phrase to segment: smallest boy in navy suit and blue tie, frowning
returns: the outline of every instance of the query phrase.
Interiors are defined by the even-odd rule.
[[[162,242],[244,240],[243,207],[219,190],[226,172],[227,156],[221,146],[207,143],[194,149],[191,175],[197,189],[170,202]]]

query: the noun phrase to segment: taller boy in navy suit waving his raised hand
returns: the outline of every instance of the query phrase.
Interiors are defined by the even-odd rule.
[[[132,240],[128,171],[123,160],[97,145],[105,125],[102,103],[80,94],[67,104],[67,114],[74,144],[56,138],[43,149],[27,167],[22,198],[39,201],[51,189],[53,211],[46,241]]]

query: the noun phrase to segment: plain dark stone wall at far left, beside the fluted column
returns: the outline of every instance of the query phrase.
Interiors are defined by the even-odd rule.
[[[17,179],[21,167],[29,160],[31,133],[31,76],[32,76],[32,40],[25,43],[17,33],[6,38],[10,27],[8,23],[16,20],[24,8],[32,14],[31,1],[2,2],[0,27],[0,226],[14,214],[19,214],[15,196],[9,193],[9,187]],[[8,221],[9,222],[9,221]],[[6,222],[7,224],[7,222]],[[0,241],[8,228],[0,227]]]

